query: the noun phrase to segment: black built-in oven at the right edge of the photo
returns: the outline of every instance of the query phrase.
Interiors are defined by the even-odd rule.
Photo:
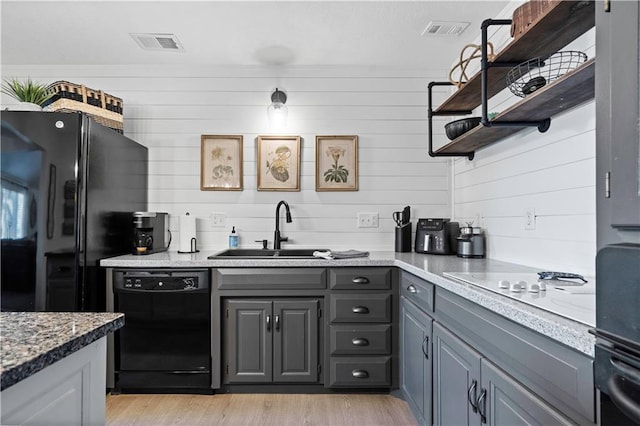
[[[640,424],[640,245],[602,248],[596,282],[599,424]]]

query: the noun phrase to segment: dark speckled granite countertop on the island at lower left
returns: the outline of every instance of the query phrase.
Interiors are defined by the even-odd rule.
[[[112,312],[0,312],[0,390],[123,325]]]

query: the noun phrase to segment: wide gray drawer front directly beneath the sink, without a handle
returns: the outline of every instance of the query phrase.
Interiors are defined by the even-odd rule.
[[[287,290],[327,288],[324,268],[219,268],[212,272],[220,290]]]

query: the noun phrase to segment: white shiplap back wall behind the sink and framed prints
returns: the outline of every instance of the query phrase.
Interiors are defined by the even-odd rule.
[[[450,160],[429,158],[426,147],[426,86],[439,75],[133,66],[5,67],[2,74],[64,79],[122,97],[125,134],[149,148],[149,209],[171,215],[175,241],[178,216],[195,215],[202,250],[224,248],[232,225],[241,246],[262,239],[271,245],[282,199],[293,215],[293,223],[281,224],[289,244],[332,249],[392,250],[391,215],[405,205],[414,218],[451,211]],[[302,137],[300,192],[256,190],[256,138],[270,134],[266,107],[275,87],[289,97],[286,134]],[[200,191],[202,134],[244,136],[244,191]],[[315,191],[315,136],[327,134],[359,136],[359,191]],[[226,214],[227,226],[213,228],[212,212]],[[358,212],[377,212],[379,228],[357,228]]]

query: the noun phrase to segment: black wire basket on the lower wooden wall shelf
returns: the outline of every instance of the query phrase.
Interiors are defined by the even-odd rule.
[[[586,61],[587,55],[575,50],[530,59],[509,70],[506,77],[507,85],[514,95],[524,98]]]

